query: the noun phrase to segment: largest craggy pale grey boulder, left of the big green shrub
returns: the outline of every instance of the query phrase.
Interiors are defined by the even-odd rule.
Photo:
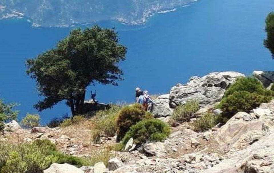
[[[170,107],[175,108],[191,99],[197,99],[200,106],[214,104],[221,100],[227,87],[238,77],[245,75],[238,72],[214,72],[202,78],[191,77],[187,84],[177,84],[171,88]]]

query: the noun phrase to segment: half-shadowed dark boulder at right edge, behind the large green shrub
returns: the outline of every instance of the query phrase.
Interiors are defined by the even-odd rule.
[[[274,71],[253,71],[252,75],[259,79],[266,88],[274,83]]]

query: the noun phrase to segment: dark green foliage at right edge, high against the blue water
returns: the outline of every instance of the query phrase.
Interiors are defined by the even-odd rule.
[[[267,38],[264,40],[263,45],[269,49],[272,58],[274,58],[274,13],[271,12],[267,15],[265,20],[265,32]]]

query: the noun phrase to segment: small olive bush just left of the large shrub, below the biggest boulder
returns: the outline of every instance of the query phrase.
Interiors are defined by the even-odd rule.
[[[212,113],[207,112],[204,116],[198,118],[192,123],[193,130],[196,132],[203,132],[216,126],[219,122],[222,122],[221,116],[215,116]]]

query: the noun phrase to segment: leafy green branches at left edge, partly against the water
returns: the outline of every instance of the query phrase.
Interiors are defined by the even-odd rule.
[[[13,110],[13,107],[17,106],[16,103],[5,104],[3,100],[0,99],[0,131],[4,130],[4,123],[11,120],[16,120],[18,111]]]

